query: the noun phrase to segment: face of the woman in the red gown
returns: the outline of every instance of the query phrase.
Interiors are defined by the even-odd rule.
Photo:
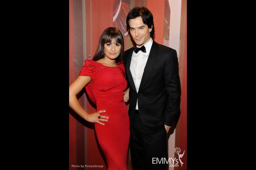
[[[115,59],[119,56],[120,52],[121,44],[116,43],[115,39],[113,39],[111,43],[107,42],[104,44],[105,57],[109,59]]]

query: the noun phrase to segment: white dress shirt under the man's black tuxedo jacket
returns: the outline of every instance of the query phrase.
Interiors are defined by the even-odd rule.
[[[139,91],[142,75],[143,75],[146,63],[148,61],[148,55],[149,55],[149,52],[150,52],[152,44],[153,44],[153,40],[150,37],[150,40],[144,45],[145,48],[146,48],[146,52],[145,53],[142,52],[142,51],[139,51],[136,54],[133,51],[133,55],[132,55],[132,58],[131,58],[130,71],[131,71],[131,75],[133,76],[133,81],[134,81],[137,93]],[[137,47],[139,47],[139,46],[137,46]],[[136,104],[136,110],[139,110],[138,99],[137,99],[137,104]],[[169,126],[167,126],[167,127],[169,127]]]

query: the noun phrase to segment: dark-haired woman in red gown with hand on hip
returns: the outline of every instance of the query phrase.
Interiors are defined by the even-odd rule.
[[[127,169],[130,131],[125,101],[129,96],[128,92],[124,95],[127,82],[123,48],[119,29],[105,29],[94,57],[84,61],[78,78],[69,86],[69,106],[88,122],[95,123],[96,136],[110,170]],[[90,100],[96,104],[93,114],[88,114],[76,97],[84,86]]]

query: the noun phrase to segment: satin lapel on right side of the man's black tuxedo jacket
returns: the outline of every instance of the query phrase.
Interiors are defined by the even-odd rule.
[[[147,82],[147,80],[150,76],[150,73],[152,71],[152,68],[154,66],[154,62],[155,62],[155,59],[156,59],[157,50],[158,50],[158,44],[155,41],[153,41],[153,44],[151,46],[151,49],[150,49],[150,52],[149,52],[149,55],[148,55],[148,61],[147,61],[146,66],[144,68],[144,72],[143,72],[143,75],[142,75],[141,84],[140,84],[138,93],[145,86],[145,84],[146,84],[146,82]]]

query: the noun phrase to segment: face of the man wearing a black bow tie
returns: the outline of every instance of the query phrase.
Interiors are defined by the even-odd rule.
[[[150,40],[150,32],[152,27],[148,28],[148,25],[143,24],[141,16],[130,19],[130,33],[137,46],[141,47]]]

